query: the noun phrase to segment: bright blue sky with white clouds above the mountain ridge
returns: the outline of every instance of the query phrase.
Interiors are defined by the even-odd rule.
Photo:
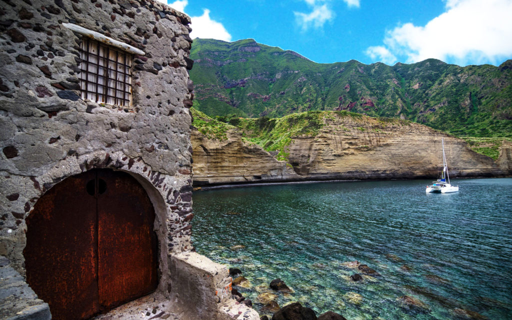
[[[160,0],[164,2],[166,0]],[[253,38],[321,63],[356,59],[460,66],[512,58],[512,0],[169,0],[191,37]]]

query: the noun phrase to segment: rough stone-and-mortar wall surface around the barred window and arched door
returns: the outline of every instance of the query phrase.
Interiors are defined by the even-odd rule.
[[[155,208],[157,291],[170,297],[169,261],[193,249],[189,17],[152,0],[7,0],[0,20],[0,255],[25,274],[25,219],[37,200],[87,170],[123,170]],[[64,23],[145,53],[133,60],[133,105],[80,97],[84,35]]]

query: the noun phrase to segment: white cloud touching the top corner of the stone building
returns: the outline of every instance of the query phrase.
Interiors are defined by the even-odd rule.
[[[166,0],[158,1],[165,4],[167,3]],[[177,0],[169,4],[169,7],[186,13],[185,7],[187,5],[188,0]],[[192,32],[190,32],[190,37],[192,38],[211,38],[224,41],[231,41],[231,34],[227,32],[226,28],[224,28],[224,25],[210,18],[209,9],[203,9],[203,14],[200,16],[190,17],[190,21],[190,27],[192,28]]]

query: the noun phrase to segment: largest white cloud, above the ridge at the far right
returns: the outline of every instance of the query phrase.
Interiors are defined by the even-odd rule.
[[[445,4],[445,12],[425,26],[407,23],[388,31],[385,46],[378,47],[389,54],[370,47],[367,55],[403,56],[409,63],[437,58],[459,65],[497,63],[512,56],[512,0],[445,0]]]

